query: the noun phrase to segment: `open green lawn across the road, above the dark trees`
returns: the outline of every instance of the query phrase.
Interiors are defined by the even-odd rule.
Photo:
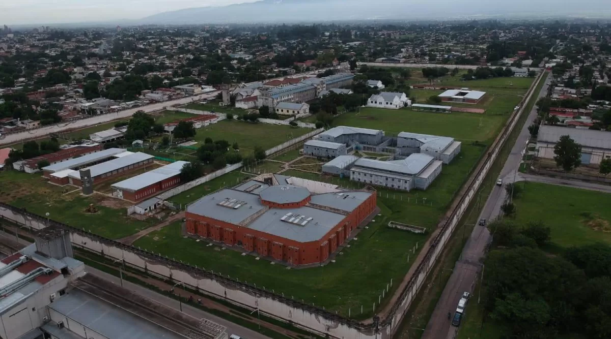
[[[527,182],[521,198],[514,203],[518,221],[544,221],[552,229],[552,244],[556,246],[611,243],[609,193]]]

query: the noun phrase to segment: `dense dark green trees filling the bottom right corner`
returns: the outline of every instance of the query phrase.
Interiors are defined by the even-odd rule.
[[[579,246],[561,255],[541,248],[551,231],[541,221],[495,221],[485,262],[483,301],[507,338],[581,334],[611,337],[611,247]]]

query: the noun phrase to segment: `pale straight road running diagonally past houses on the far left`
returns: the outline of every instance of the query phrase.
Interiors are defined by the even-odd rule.
[[[84,128],[84,127],[89,127],[89,126],[95,126],[98,124],[108,123],[109,121],[113,121],[113,120],[117,120],[121,118],[128,118],[134,115],[134,113],[136,113],[139,110],[144,110],[144,112],[147,112],[147,113],[155,112],[158,110],[163,110],[165,107],[171,106],[171,105],[188,104],[189,102],[210,99],[210,98],[214,98],[216,95],[218,95],[218,93],[219,93],[218,91],[214,91],[214,92],[205,93],[202,95],[188,96],[186,98],[180,98],[180,99],[176,99],[172,101],[158,102],[156,104],[145,105],[145,106],[136,107],[136,108],[128,109],[128,110],[122,110],[117,113],[96,115],[96,116],[92,116],[91,118],[87,118],[87,119],[70,121],[69,123],[60,123],[57,125],[42,127],[42,128],[33,129],[33,130],[24,130],[23,132],[4,135],[0,137],[0,145],[10,145],[13,143],[18,143],[19,141],[23,141],[23,140],[42,138],[49,134],[64,132],[65,130],[72,130],[72,129]]]

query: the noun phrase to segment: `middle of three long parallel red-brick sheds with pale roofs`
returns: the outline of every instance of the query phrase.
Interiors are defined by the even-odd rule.
[[[136,169],[153,165],[154,158],[153,155],[142,152],[125,152],[120,157],[84,169],[89,169],[93,184],[100,184],[100,182],[123,176]],[[67,173],[67,178],[68,184],[82,186],[81,173],[79,171],[70,171]]]

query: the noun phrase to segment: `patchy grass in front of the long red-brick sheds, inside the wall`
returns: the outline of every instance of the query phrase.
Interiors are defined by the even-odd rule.
[[[75,191],[76,190],[76,191]],[[70,191],[73,193],[63,194]],[[17,171],[0,173],[0,201],[25,208],[38,215],[49,213],[49,218],[73,227],[91,230],[111,239],[122,238],[159,221],[137,221],[126,216],[129,202],[101,194],[86,197],[76,187],[48,184],[39,174]],[[89,204],[99,212],[85,213]]]

